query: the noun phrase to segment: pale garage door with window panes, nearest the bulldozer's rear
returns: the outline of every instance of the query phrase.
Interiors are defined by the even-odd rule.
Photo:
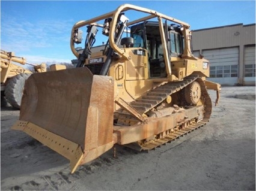
[[[210,78],[222,86],[237,84],[239,73],[239,47],[203,50],[204,58],[210,62]]]

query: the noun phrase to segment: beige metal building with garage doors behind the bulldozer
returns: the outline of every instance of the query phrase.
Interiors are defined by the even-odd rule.
[[[255,86],[255,24],[192,31],[194,56],[210,61],[210,78],[222,86]]]

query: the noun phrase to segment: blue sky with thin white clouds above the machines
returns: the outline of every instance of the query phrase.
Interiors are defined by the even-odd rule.
[[[149,8],[189,23],[191,30],[255,23],[255,1],[0,1],[1,50],[29,63],[71,63],[73,25],[122,4]],[[136,19],[136,15],[132,15]],[[85,38],[86,30],[84,31]],[[82,42],[84,46],[84,41]],[[100,45],[102,41],[97,41]]]

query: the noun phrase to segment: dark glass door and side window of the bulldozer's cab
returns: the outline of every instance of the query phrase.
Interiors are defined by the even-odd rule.
[[[183,53],[183,35],[180,28],[165,23],[165,36],[168,48],[168,57],[180,57]],[[167,29],[167,30],[166,30]],[[159,23],[145,21],[130,28],[130,36],[134,39],[133,47],[147,50],[150,78],[167,77],[163,46],[160,37]]]

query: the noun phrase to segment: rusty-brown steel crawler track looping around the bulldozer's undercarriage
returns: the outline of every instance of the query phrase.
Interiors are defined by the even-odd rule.
[[[162,132],[162,134],[155,135],[150,141],[139,141],[138,143],[128,144],[127,147],[134,148],[135,150],[151,150],[159,147],[162,144],[169,143],[183,135],[189,134],[195,129],[205,125],[209,121],[212,113],[212,101],[207,92],[204,81],[201,78],[198,78],[198,76],[190,76],[184,78],[183,81],[169,82],[163,84],[162,86],[158,86],[155,89],[145,93],[135,101],[130,102],[129,105],[135,108],[135,110],[137,110],[140,114],[147,114],[148,111],[156,108],[163,101],[165,101],[168,96],[171,96],[173,93],[184,89],[193,81],[197,81],[201,87],[201,102],[204,106],[203,119],[188,119],[183,123],[180,123],[178,126],[170,127],[168,131]],[[132,125],[136,123],[136,121],[138,122],[135,117],[130,116],[126,111],[123,111],[123,113],[120,114],[119,119],[121,119],[123,125]]]

